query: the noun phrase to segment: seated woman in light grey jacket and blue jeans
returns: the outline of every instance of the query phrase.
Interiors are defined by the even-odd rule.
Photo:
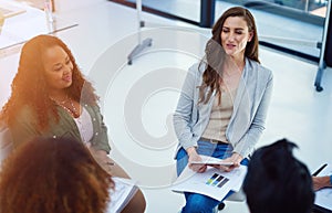
[[[187,164],[205,172],[207,166],[190,163],[199,155],[232,162],[218,167],[225,171],[246,164],[264,129],[271,92],[272,73],[258,58],[255,19],[245,8],[230,8],[215,23],[205,58],[189,68],[174,114],[178,174]],[[212,212],[220,203],[201,194],[185,196],[183,213]]]

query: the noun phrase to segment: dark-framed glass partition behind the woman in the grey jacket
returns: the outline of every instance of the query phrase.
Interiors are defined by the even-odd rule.
[[[135,0],[111,0],[135,7]],[[201,2],[212,3],[203,7]],[[218,19],[230,7],[248,8],[260,43],[319,61],[328,0],[142,0],[143,10],[201,26],[201,14]],[[203,10],[204,9],[204,10]],[[208,9],[208,10],[207,10]]]

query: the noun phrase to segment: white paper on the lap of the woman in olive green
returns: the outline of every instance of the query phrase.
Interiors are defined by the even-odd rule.
[[[123,178],[112,178],[115,183],[115,190],[110,191],[111,203],[107,206],[107,213],[120,213],[137,192],[136,181]]]

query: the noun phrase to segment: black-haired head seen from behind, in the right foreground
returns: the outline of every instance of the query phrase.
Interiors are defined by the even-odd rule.
[[[295,159],[297,145],[287,139],[253,152],[243,182],[250,213],[310,213],[314,192],[305,164]]]

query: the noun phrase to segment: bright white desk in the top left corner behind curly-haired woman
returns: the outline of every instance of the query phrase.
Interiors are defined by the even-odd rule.
[[[2,1],[0,0],[0,6]],[[49,22],[43,10],[7,0],[6,4],[8,3],[21,8],[24,12],[4,20],[0,34],[0,57],[18,52],[24,42],[35,35],[55,34],[77,25],[59,17],[54,17],[54,21]]]

